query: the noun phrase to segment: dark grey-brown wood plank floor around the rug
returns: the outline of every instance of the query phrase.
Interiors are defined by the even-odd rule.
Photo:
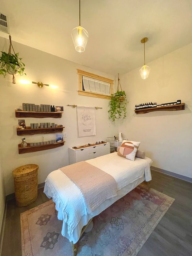
[[[153,170],[151,173],[151,188],[175,198],[175,202],[138,256],[192,256],[192,183]],[[43,189],[39,189],[37,200],[29,206],[18,208],[14,199],[7,202],[1,256],[21,256],[20,213],[47,200]]]

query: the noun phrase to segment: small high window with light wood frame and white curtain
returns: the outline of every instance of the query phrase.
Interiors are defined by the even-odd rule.
[[[113,94],[113,80],[77,69],[79,95],[110,99]]]

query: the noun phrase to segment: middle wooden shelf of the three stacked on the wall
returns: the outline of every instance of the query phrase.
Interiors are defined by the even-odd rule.
[[[26,129],[17,129],[17,135],[35,135],[35,134],[48,134],[48,133],[57,133],[62,132],[65,127],[54,127],[54,128],[36,128],[31,129],[31,127],[27,126]]]

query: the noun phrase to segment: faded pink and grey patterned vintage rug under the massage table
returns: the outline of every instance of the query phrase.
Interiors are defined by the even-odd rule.
[[[174,199],[140,185],[93,219],[78,256],[135,256]],[[72,256],[52,200],[21,213],[22,256]]]

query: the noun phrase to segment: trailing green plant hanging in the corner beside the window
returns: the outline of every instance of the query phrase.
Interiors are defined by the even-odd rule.
[[[109,103],[109,119],[113,122],[123,117],[126,118],[127,114],[127,100],[126,100],[126,93],[122,90],[121,83],[119,81],[119,74],[118,74],[118,85],[117,85],[117,92],[112,94],[111,101]],[[119,90],[119,87],[121,91]]]

